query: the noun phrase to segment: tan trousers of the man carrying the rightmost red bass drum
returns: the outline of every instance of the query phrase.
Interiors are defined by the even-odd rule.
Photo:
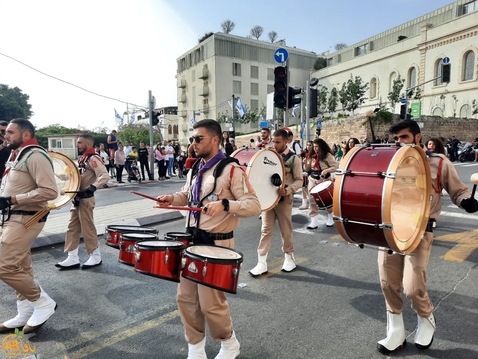
[[[432,247],[433,233],[425,232],[418,247],[403,257],[400,254],[379,252],[380,285],[387,311],[400,314],[403,310],[403,293],[412,301],[413,310],[421,317],[428,318],[433,304],[426,291],[426,267]]]

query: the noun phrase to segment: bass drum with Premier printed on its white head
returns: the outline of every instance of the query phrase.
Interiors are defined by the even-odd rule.
[[[277,189],[285,181],[282,157],[271,148],[239,148],[231,157],[237,158],[246,172],[261,203],[261,210],[268,211],[274,207],[281,199]]]

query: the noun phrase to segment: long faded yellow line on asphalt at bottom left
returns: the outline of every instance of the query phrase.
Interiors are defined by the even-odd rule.
[[[77,351],[71,353],[70,359],[84,358],[89,354],[93,354],[93,353],[96,353],[97,351],[99,351],[101,349],[111,347],[112,345],[115,345],[116,343],[119,343],[120,341],[122,341],[126,338],[133,337],[133,336],[135,336],[135,335],[137,335],[141,332],[144,332],[145,330],[154,328],[155,326],[161,325],[164,322],[166,322],[170,319],[176,318],[178,316],[179,316],[179,311],[176,309],[175,311],[164,314],[157,319],[153,319],[153,320],[150,320],[148,322],[142,323],[140,325],[136,325],[136,326],[134,326],[130,329],[126,329],[126,330],[122,331],[121,333],[118,333],[114,336],[111,336],[109,338],[105,338],[101,341],[101,344],[93,344],[93,345],[87,346],[86,348],[82,348],[80,350],[77,350]]]

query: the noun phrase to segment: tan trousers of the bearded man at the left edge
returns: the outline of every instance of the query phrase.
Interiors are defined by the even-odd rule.
[[[40,298],[40,288],[33,281],[30,248],[45,222],[27,229],[23,223],[31,217],[13,214],[10,221],[0,227],[0,280],[15,290],[19,301],[28,299],[33,302]]]

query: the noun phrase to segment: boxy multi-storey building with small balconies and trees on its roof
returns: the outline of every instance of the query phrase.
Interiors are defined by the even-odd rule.
[[[226,111],[230,117],[227,100],[233,94],[240,96],[249,109],[265,107],[267,93],[274,91],[274,68],[280,65],[274,61],[274,53],[281,47],[289,52],[289,85],[305,87],[317,55],[295,47],[216,33],[179,56],[176,78],[180,128],[190,126],[193,112],[199,113],[197,120],[216,120]],[[250,132],[258,126],[258,122],[242,127],[237,123],[236,131]]]

